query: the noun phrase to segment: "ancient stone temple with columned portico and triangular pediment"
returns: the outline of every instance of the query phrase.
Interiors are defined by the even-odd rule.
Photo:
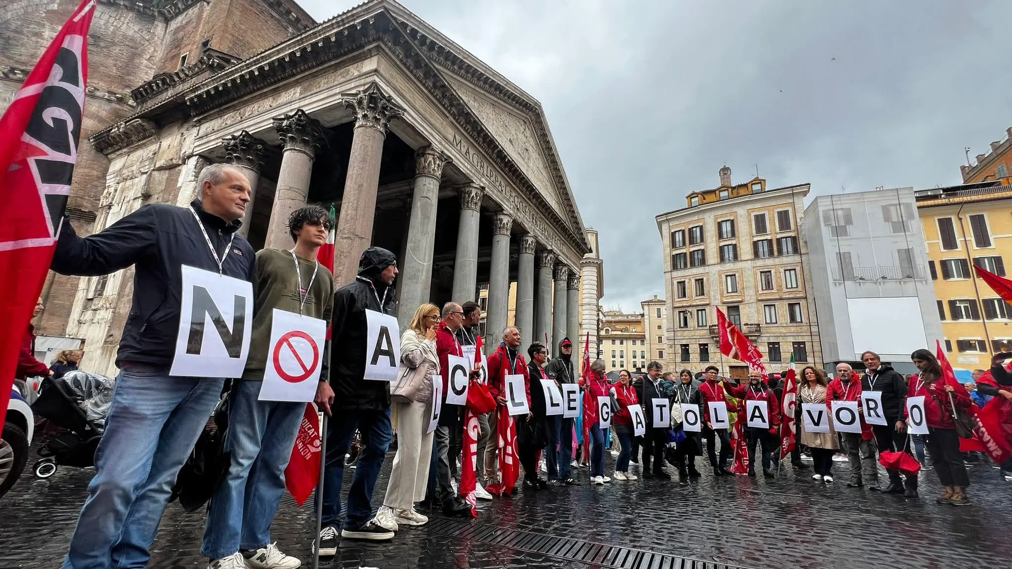
[[[32,9],[59,26],[75,3],[0,1],[22,10],[0,31],[34,21]],[[253,187],[254,248],[290,248],[288,214],[320,204],[337,211],[338,286],[366,247],[394,251],[402,325],[421,303],[487,286],[488,342],[515,323],[525,343],[590,332],[597,352],[597,235],[540,104],[397,2],[317,23],[291,0],[99,0],[95,22],[85,112],[96,111],[70,202],[82,233],[145,204],[186,207],[203,166],[231,163]],[[123,92],[132,74],[144,79]],[[12,89],[0,81],[0,96]],[[43,331],[84,339],[84,368],[114,374],[132,294],[132,269],[51,277]]]

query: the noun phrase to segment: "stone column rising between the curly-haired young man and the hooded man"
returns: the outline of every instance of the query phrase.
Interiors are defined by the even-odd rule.
[[[362,251],[372,241],[383,141],[391,119],[404,114],[375,83],[344,95],[343,103],[355,111],[355,131],[334,232],[334,286],[338,288],[354,280]]]

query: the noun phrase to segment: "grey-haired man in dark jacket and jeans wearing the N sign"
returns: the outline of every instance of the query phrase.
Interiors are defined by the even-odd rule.
[[[193,347],[183,344],[187,353],[177,353],[180,307],[187,296],[182,267],[231,277],[233,288],[253,280],[253,248],[237,234],[250,185],[239,170],[212,164],[200,172],[197,188],[199,198],[189,208],[143,206],[83,239],[64,220],[53,257],[56,272],[94,276],[135,266],[133,306],[116,355],[120,374],[67,567],[147,564],[176,474],[221,397],[223,378],[170,374],[173,362],[192,355]],[[251,315],[245,322],[234,316],[226,326],[249,331]],[[244,359],[241,352],[232,355],[242,333],[222,341],[229,357]]]

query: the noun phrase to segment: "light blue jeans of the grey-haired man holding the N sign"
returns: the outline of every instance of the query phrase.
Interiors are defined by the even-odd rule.
[[[64,569],[147,565],[176,475],[224,383],[169,376],[165,365],[123,367]]]

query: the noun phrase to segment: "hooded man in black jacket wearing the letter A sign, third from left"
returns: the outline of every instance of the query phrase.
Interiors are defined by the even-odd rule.
[[[396,530],[382,526],[371,519],[372,507],[369,505],[393,436],[390,384],[364,378],[368,335],[365,313],[374,311],[393,315],[393,284],[397,273],[394,253],[381,247],[369,247],[358,262],[355,280],[334,294],[330,383],[320,383],[316,398],[331,416],[327,427],[320,555],[337,553],[344,456],[348,453],[355,429],[361,432],[363,446],[348,490],[348,510],[341,537],[390,540]],[[400,359],[400,354],[397,355]]]

